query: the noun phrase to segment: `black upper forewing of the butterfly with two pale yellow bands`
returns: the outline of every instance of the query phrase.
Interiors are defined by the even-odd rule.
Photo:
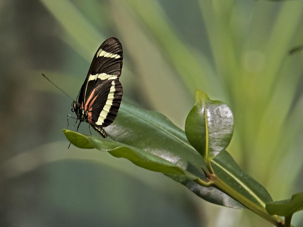
[[[106,80],[119,80],[122,69],[123,49],[120,41],[111,37],[96,52],[87,77],[81,87],[78,102],[86,103],[95,87]]]

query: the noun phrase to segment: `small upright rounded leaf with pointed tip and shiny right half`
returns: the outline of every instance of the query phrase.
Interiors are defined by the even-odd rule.
[[[231,141],[234,118],[231,109],[221,101],[210,100],[197,90],[196,103],[185,121],[188,141],[207,160],[225,150]]]

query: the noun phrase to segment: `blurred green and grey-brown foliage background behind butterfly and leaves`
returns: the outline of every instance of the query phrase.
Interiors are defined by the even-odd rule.
[[[72,100],[41,73],[76,98],[117,37],[123,99],[182,129],[197,88],[227,103],[228,152],[280,200],[303,191],[303,51],[289,54],[302,24],[302,1],[0,1],[0,226],[272,226],[128,160],[68,150]]]

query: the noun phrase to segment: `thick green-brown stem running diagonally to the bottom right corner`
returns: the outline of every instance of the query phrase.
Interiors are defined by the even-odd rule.
[[[278,218],[277,216],[273,216],[268,214],[265,208],[258,206],[245,196],[241,195],[239,192],[237,192],[235,189],[231,188],[228,184],[226,184],[224,181],[222,181],[216,174],[206,173],[207,177],[207,183],[210,183],[211,186],[219,189],[220,191],[226,193],[228,196],[231,196],[244,206],[246,206],[248,209],[252,210],[259,216],[263,217],[264,219],[268,220],[269,222],[273,223],[274,225],[281,227],[284,226],[284,220]],[[201,179],[200,179],[201,180]],[[201,180],[202,181],[202,180]],[[200,181],[195,180],[196,183],[199,184]],[[204,182],[204,181],[202,181]],[[202,184],[200,184],[202,185]],[[205,185],[205,182],[204,182]],[[202,186],[204,186],[202,185]],[[290,225],[289,225],[290,226]]]

